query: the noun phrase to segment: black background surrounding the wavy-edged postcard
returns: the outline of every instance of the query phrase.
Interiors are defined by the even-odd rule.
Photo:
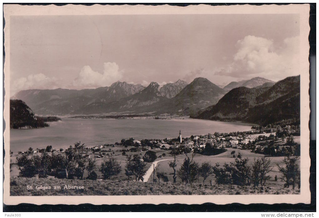
[[[77,5],[76,3],[73,3]],[[144,3],[141,3],[144,4]],[[200,4],[200,3],[198,3]],[[233,5],[230,4],[209,4],[209,5]],[[266,3],[271,4],[271,3]],[[288,3],[286,3],[288,4]],[[303,3],[304,4],[304,3]],[[5,205],[3,204],[3,212],[126,212],[126,211],[144,211],[144,212],[155,212],[155,211],[167,211],[167,212],[199,212],[199,211],[228,211],[228,212],[314,212],[316,211],[316,138],[315,138],[315,96],[316,96],[316,69],[315,69],[315,55],[316,55],[316,4],[310,4],[310,33],[309,33],[309,62],[310,62],[310,148],[309,154],[311,159],[310,166],[310,191],[311,191],[311,203],[310,204],[226,204],[217,205],[212,203],[205,203],[201,205],[186,205],[186,204],[141,204],[141,205],[92,205],[92,204],[80,204],[80,205],[33,205],[33,204],[19,204],[19,205]],[[48,5],[48,4],[21,4],[21,5]],[[62,6],[65,4],[55,4]],[[93,4],[84,4],[93,5]],[[103,5],[103,4],[101,4]],[[119,4],[110,4],[119,5]],[[136,4],[130,4],[136,5]],[[144,4],[144,5],[161,5],[161,4]],[[169,4],[177,6],[187,6],[190,4]],[[196,4],[193,4],[196,5]],[[252,5],[263,5],[263,4],[252,4]],[[284,4],[278,4],[284,5]],[[4,18],[3,18],[4,19]],[[5,25],[5,22],[4,22]],[[4,28],[4,26],[3,26]],[[3,51],[4,52],[4,51]],[[4,54],[5,55],[5,54]],[[5,93],[5,92],[4,92]],[[3,152],[4,154],[4,152]],[[4,158],[4,156],[3,156]]]

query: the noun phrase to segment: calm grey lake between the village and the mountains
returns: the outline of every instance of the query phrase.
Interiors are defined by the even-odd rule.
[[[36,129],[10,129],[10,150],[14,153],[29,147],[67,148],[81,141],[91,147],[99,144],[114,144],[122,138],[164,139],[204,135],[214,132],[248,131],[252,124],[207,121],[196,119],[72,119],[49,122],[50,127]]]

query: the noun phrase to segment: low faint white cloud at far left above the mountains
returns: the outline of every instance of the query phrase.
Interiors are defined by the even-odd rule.
[[[14,95],[20,90],[28,89],[57,89],[60,82],[55,77],[48,77],[44,74],[31,74],[15,80],[10,88],[10,94]]]

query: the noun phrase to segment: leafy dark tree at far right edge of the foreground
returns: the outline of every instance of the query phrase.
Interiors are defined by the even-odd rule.
[[[284,166],[277,164],[277,167],[279,168],[279,172],[282,174],[281,179],[286,182],[284,187],[289,188],[289,186],[292,185],[294,189],[295,184],[299,183],[298,177],[300,177],[298,157],[292,157],[287,154],[284,158]]]

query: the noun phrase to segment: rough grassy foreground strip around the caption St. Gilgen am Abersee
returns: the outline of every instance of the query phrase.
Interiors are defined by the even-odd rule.
[[[32,185],[33,189],[27,189]],[[36,189],[37,185],[50,186],[51,189]],[[84,189],[64,189],[65,185],[84,186]],[[54,189],[60,186],[61,189]],[[52,195],[236,195],[236,194],[300,194],[296,188],[248,187],[236,185],[181,183],[142,183],[134,181],[110,180],[68,180],[48,178],[11,178],[11,196],[52,196]]]

